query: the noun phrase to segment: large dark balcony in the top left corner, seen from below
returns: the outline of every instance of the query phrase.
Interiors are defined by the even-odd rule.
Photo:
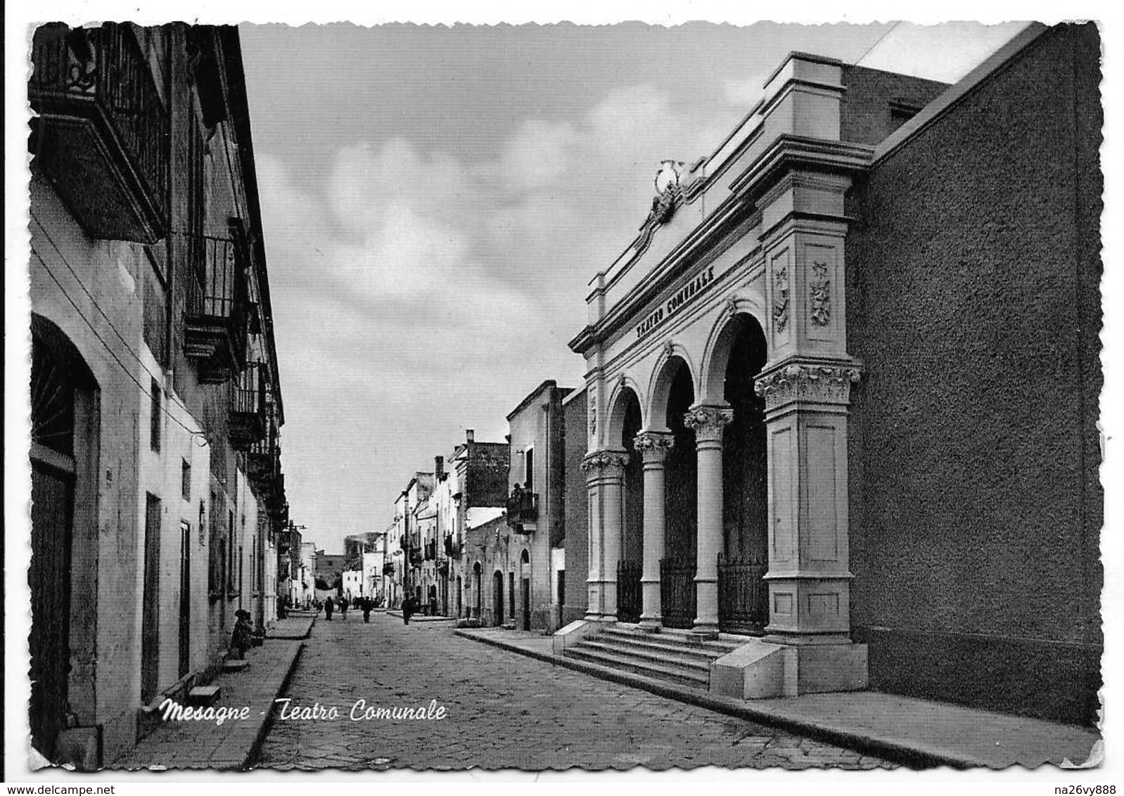
[[[28,96],[35,165],[94,238],[167,232],[169,114],[133,30],[44,26]]]

